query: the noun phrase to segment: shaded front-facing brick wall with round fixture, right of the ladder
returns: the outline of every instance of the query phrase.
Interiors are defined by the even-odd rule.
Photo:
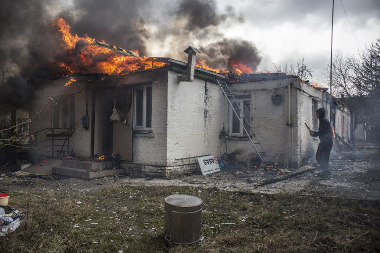
[[[287,82],[288,80],[270,80],[231,86],[235,96],[251,95],[253,131],[267,152],[269,159],[281,163],[286,163],[285,158],[288,157]],[[281,95],[282,100],[278,105],[272,103],[272,90]],[[294,117],[293,114],[292,111],[292,117]],[[227,148],[229,153],[237,152],[239,160],[243,162],[246,162],[248,153],[256,153],[249,141],[228,140]]]

